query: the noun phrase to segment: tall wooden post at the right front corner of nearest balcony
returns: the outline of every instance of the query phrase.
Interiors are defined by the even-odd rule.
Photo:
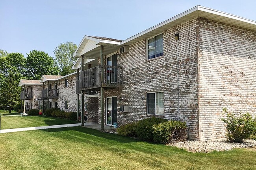
[[[102,83],[104,82],[104,46],[100,46],[100,73],[101,73],[101,86],[100,86],[100,129],[104,130],[104,88],[102,87]]]

